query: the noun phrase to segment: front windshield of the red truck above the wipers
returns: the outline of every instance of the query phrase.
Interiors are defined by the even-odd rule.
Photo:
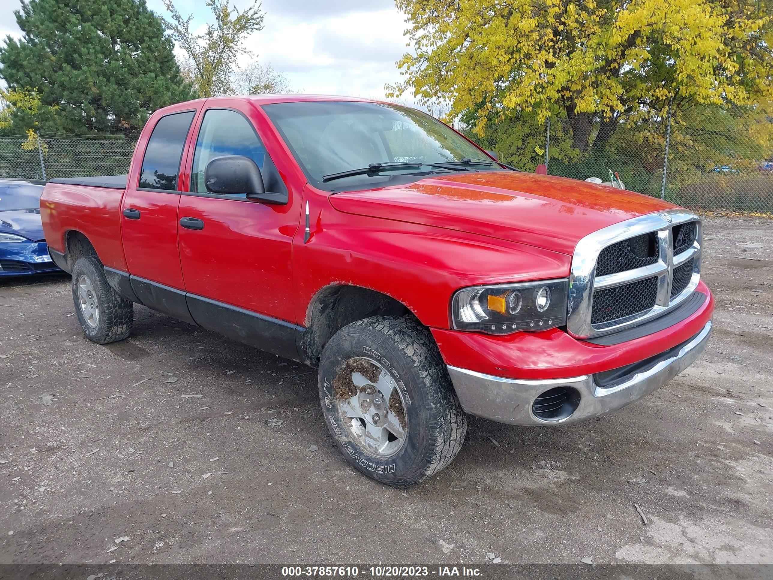
[[[410,174],[453,169],[391,168],[389,172],[323,183],[324,176],[373,163],[442,163],[487,159],[480,149],[426,113],[356,101],[307,101],[264,105],[308,179],[322,189],[381,186]],[[493,166],[492,169],[498,169]],[[409,179],[410,180],[410,179]]]

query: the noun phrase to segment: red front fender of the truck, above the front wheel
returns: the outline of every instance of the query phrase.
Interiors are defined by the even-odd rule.
[[[469,285],[569,274],[570,256],[441,227],[341,213],[309,196],[309,235],[293,248],[295,311],[329,285],[355,285],[389,295],[425,326],[450,327],[451,295]]]

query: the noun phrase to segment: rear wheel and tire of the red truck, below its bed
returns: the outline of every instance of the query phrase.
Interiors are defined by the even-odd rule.
[[[94,343],[114,343],[131,334],[134,304],[117,295],[93,256],[78,258],[73,266],[73,302],[83,334]]]

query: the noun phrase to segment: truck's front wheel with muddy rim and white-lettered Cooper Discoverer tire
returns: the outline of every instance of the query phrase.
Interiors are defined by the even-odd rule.
[[[394,487],[438,473],[461,449],[467,415],[424,327],[397,316],[344,326],[322,351],[330,432],[359,471]]]

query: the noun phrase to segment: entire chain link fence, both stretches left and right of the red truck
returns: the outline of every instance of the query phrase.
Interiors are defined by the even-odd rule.
[[[505,122],[483,136],[465,132],[525,171],[596,178],[702,212],[773,213],[773,151],[758,145],[759,127],[697,115],[675,119],[671,128],[662,119],[645,128],[605,130],[593,129],[583,151],[566,146],[567,127],[556,121],[526,132]],[[0,178],[121,175],[136,143],[34,133],[0,137]]]

